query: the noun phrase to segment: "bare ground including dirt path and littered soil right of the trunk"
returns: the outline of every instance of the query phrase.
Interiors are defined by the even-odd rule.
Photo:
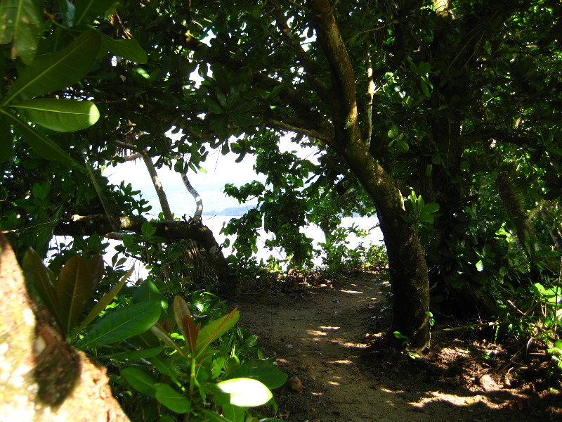
[[[429,353],[377,341],[388,328],[377,274],[242,295],[240,325],[289,374],[275,417],[289,422],[562,421],[561,377],[540,357],[434,327]],[[285,282],[286,283],[286,282]],[[514,358],[515,355],[515,358]],[[524,356],[523,356],[524,357]],[[274,415],[270,415],[274,416]]]

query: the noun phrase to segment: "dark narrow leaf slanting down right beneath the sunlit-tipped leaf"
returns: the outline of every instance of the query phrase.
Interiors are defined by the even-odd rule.
[[[0,115],[2,115],[6,122],[11,124],[13,128],[22,135],[23,139],[25,139],[25,141],[27,141],[27,143],[29,143],[35,152],[41,155],[41,157],[46,160],[58,160],[66,167],[84,172],[84,168],[80,167],[78,163],[70,157],[70,155],[60,148],[60,146],[51,141],[51,139],[48,139],[46,136],[39,134],[39,132],[30,126],[30,124],[24,122],[19,117],[4,110],[3,108],[0,108]]]

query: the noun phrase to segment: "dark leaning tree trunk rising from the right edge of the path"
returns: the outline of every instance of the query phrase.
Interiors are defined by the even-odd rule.
[[[410,347],[429,345],[429,280],[417,231],[402,218],[403,198],[396,181],[374,160],[359,128],[355,74],[328,0],[309,1],[311,21],[329,67],[331,89],[316,82],[317,94],[332,115],[334,139],[328,145],[346,160],[372,198],[384,235],[393,291],[391,331],[405,335]],[[369,139],[367,136],[366,139]]]

